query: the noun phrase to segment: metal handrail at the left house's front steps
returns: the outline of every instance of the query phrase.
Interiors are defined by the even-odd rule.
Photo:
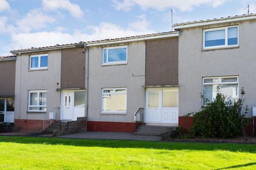
[[[53,107],[49,111],[47,111],[43,117],[43,131],[51,126],[51,124],[56,120],[56,115],[59,112],[59,107]]]

